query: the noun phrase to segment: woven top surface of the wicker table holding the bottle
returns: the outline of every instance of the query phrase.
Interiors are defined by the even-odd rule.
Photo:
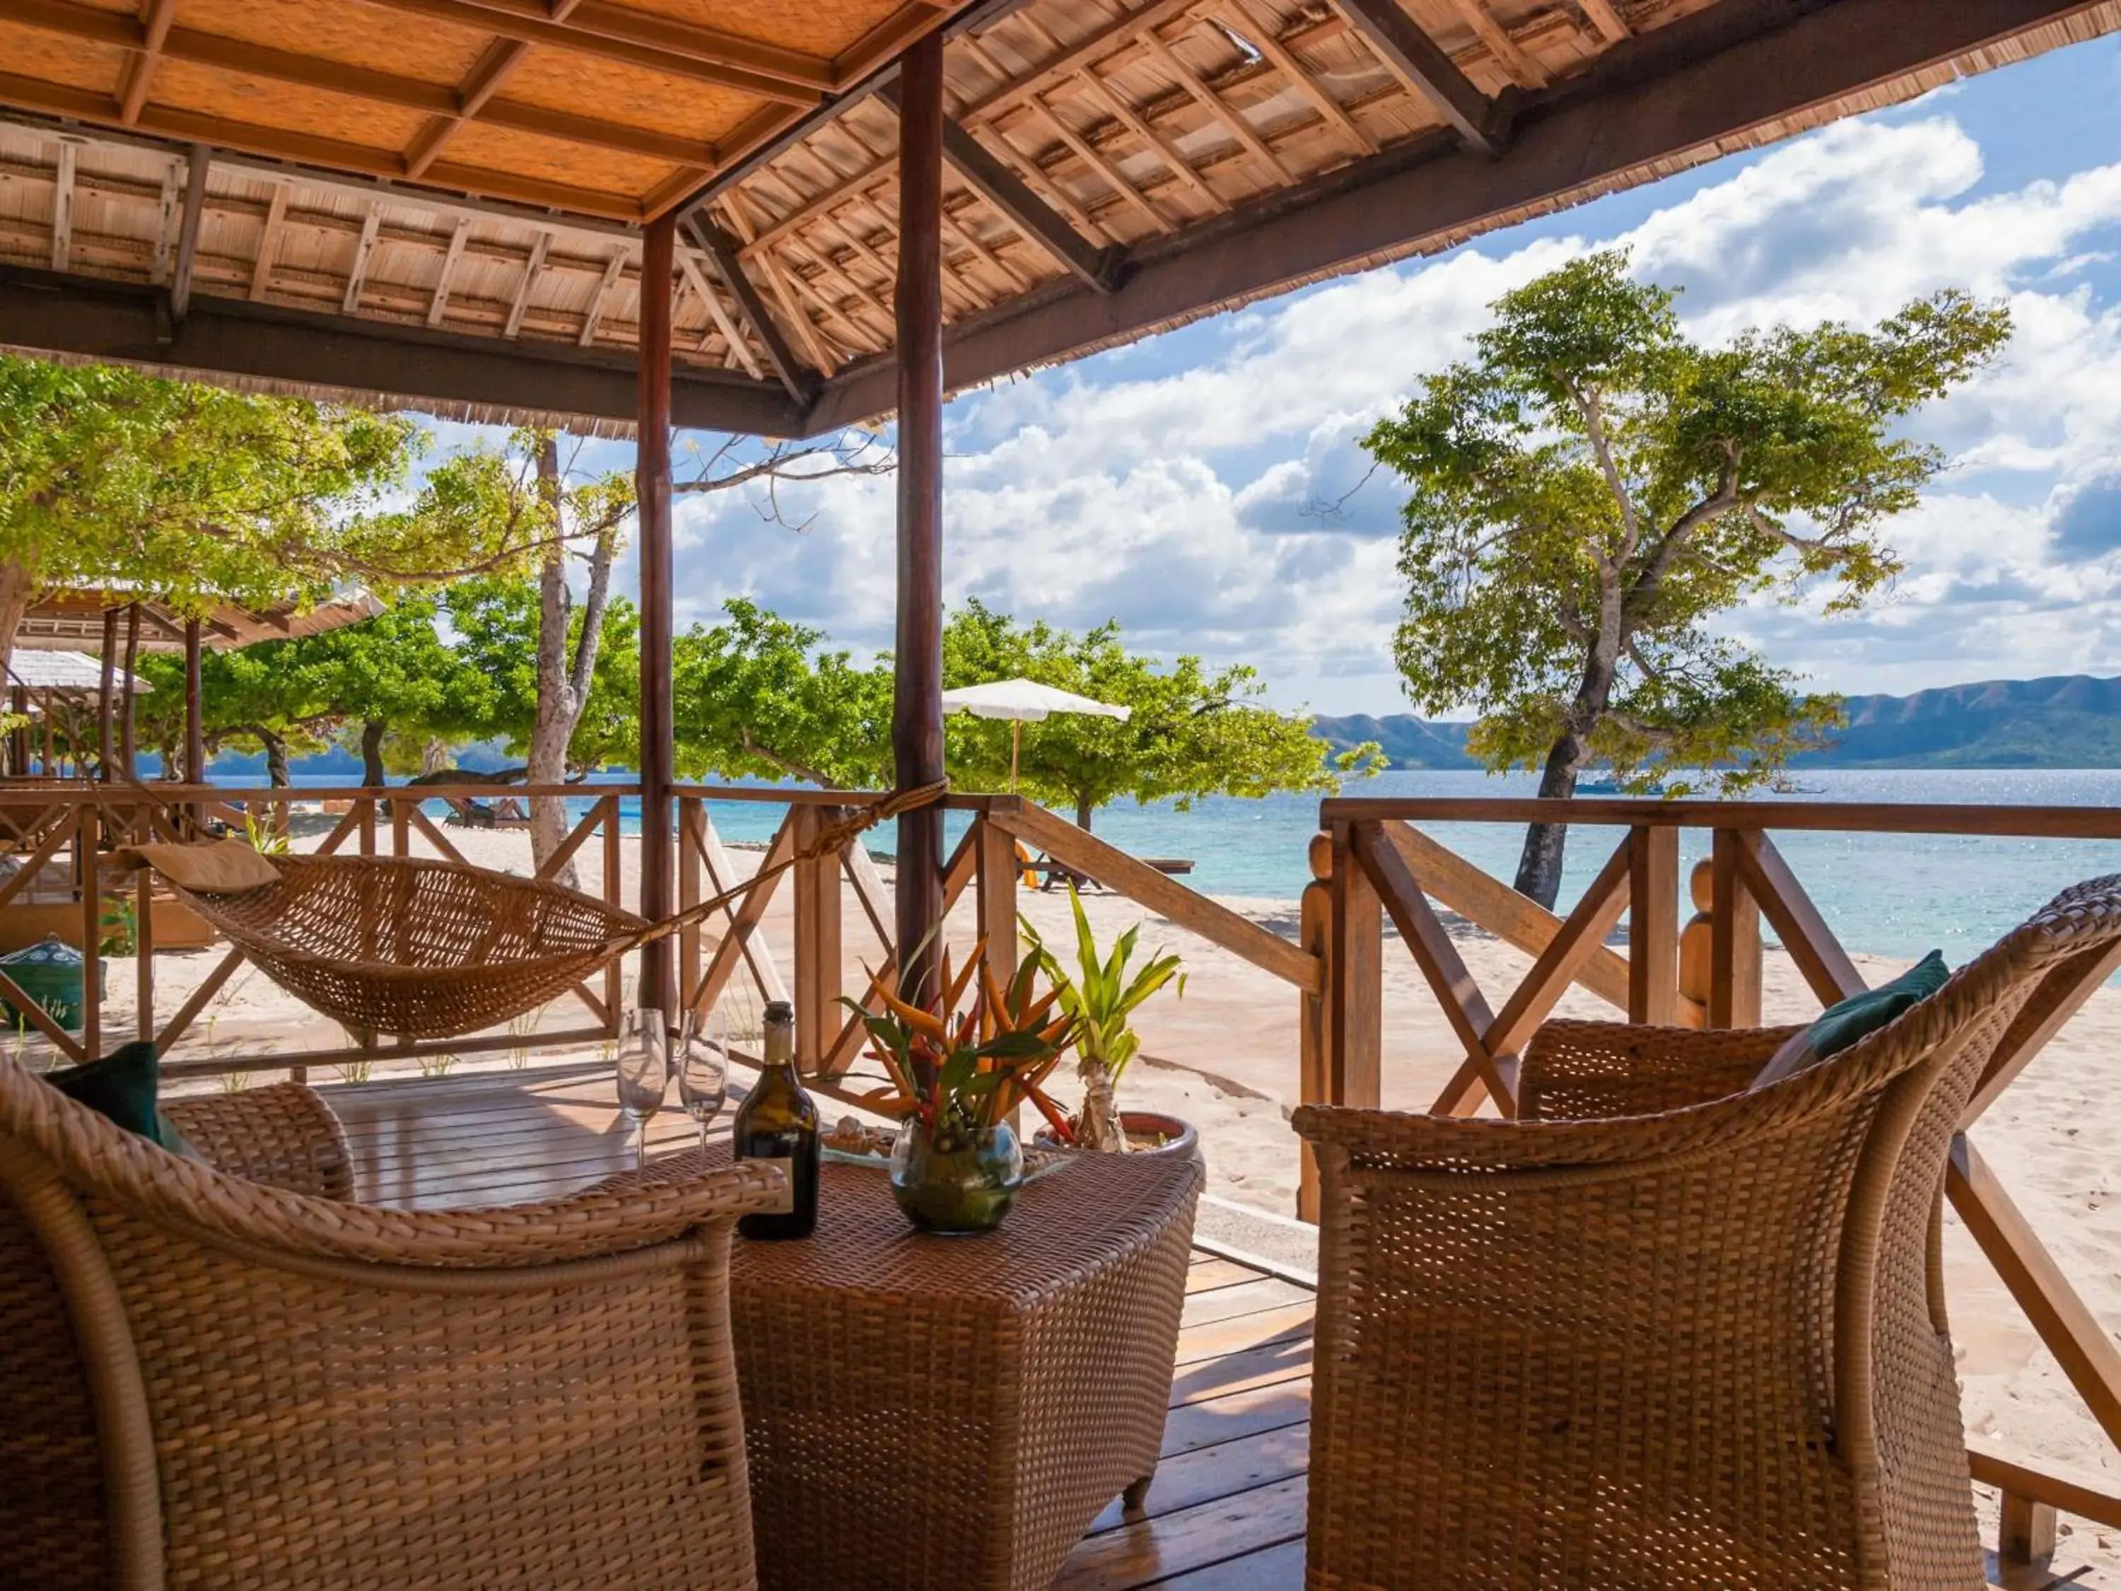
[[[728,1160],[728,1146],[691,1150],[685,1158],[719,1165]],[[937,1237],[908,1224],[880,1167],[827,1160],[819,1175],[817,1235],[793,1243],[738,1237],[732,1288],[948,1294],[1031,1307],[1186,1220],[1203,1182],[1198,1160],[1082,1154],[1024,1188],[999,1230]]]

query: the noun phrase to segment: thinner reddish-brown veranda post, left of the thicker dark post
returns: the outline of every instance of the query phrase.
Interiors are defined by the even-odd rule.
[[[641,390],[634,499],[641,513],[641,914],[670,916],[670,272],[677,216],[641,233]],[[641,948],[641,1006],[677,1012],[677,961],[668,938]]]

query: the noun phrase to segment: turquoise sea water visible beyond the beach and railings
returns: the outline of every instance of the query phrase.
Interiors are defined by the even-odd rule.
[[[301,783],[335,783],[301,779]],[[1799,791],[1777,800],[1949,802],[1992,806],[2121,806],[2121,770],[1803,770]],[[1478,772],[1387,772],[1355,781],[1349,796],[1529,796],[1529,776]],[[715,827],[732,842],[772,836],[785,812],[772,802],[715,802]],[[439,808],[437,808],[439,817]],[[638,819],[628,812],[628,827]],[[954,840],[963,819],[950,819]],[[1211,895],[1292,899],[1309,880],[1304,849],[1317,829],[1315,796],[1203,800],[1107,806],[1094,829],[1135,855],[1190,857],[1188,882]],[[1508,878],[1523,827],[1500,823],[1438,825],[1434,836],[1489,872]],[[1616,829],[1578,827],[1570,836],[1567,902],[1618,842]],[[889,832],[874,838],[889,849]],[[1968,836],[1803,834],[1775,844],[1811,891],[1820,912],[1852,950],[1917,957],[1943,948],[1953,963],[1975,955],[2026,919],[2057,889],[2121,872],[2115,840],[1987,840]],[[1686,866],[1707,851],[1707,834],[1682,834]]]

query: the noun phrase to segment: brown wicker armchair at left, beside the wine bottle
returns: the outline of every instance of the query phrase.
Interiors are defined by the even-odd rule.
[[[761,1173],[407,1213],[308,1088],[170,1114],[227,1171],[0,1061],[0,1583],[755,1585]]]

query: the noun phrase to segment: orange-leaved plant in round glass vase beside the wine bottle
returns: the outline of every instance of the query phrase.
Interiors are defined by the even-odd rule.
[[[1039,995],[1035,982],[1037,963],[1024,961],[1003,989],[982,940],[954,976],[944,950],[929,1008],[899,999],[874,972],[870,1001],[882,1012],[844,1001],[891,1080],[859,1101],[899,1118],[891,1196],[923,1230],[999,1226],[1024,1177],[1010,1116],[1029,1101],[1048,1122],[1067,1120],[1041,1084],[1067,1052],[1075,1020],[1056,1014],[1056,991]]]

